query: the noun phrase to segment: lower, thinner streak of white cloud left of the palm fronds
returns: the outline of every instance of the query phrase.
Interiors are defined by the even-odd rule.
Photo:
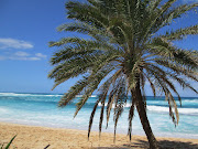
[[[4,60],[15,60],[15,61],[41,61],[46,58],[46,55],[42,53],[30,54],[26,52],[18,51],[15,53],[6,53],[4,55],[0,55],[0,61]]]

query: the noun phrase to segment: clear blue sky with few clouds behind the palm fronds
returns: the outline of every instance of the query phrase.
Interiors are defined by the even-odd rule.
[[[190,0],[196,1],[196,0]],[[59,33],[56,28],[68,22],[65,0],[1,0],[0,1],[0,92],[64,93],[77,78],[69,79],[51,91],[53,81],[47,78],[52,68],[48,61],[55,49],[50,41],[73,34]],[[182,2],[189,2],[182,0]],[[197,1],[198,2],[198,1]],[[198,14],[188,13],[170,29],[198,23]],[[198,50],[198,36],[188,36],[175,43],[184,49]],[[198,89],[198,84],[191,82]],[[182,96],[197,96],[182,91]],[[152,95],[146,89],[147,95]]]

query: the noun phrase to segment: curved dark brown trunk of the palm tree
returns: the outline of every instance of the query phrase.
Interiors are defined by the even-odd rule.
[[[140,83],[138,83],[135,89],[132,92],[133,99],[135,99],[136,109],[139,113],[139,117],[141,119],[142,127],[146,134],[147,140],[150,142],[150,149],[158,149],[157,140],[153,135],[153,131],[150,126],[150,121],[147,119],[145,105],[141,95]]]

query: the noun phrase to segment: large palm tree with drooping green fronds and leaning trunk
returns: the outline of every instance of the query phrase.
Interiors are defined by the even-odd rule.
[[[130,140],[136,107],[150,148],[157,149],[158,145],[146,116],[145,82],[150,83],[154,96],[157,92],[165,95],[169,104],[169,116],[175,125],[178,124],[179,115],[173,93],[179,100],[180,96],[173,82],[198,93],[186,81],[190,78],[198,82],[198,52],[179,49],[172,42],[183,40],[186,35],[198,34],[198,24],[165,33],[167,28],[164,26],[197,8],[198,3],[175,6],[176,1],[66,2],[67,18],[73,22],[61,25],[58,31],[78,32],[86,38],[63,38],[57,42],[50,42],[50,46],[57,46],[59,50],[51,58],[54,68],[48,77],[55,79],[55,88],[69,78],[81,76],[59,100],[59,106],[65,107],[76,95],[84,94],[76,104],[75,116],[98,89],[99,96],[90,115],[88,137],[99,103],[102,105],[99,132],[102,128],[105,103],[108,103],[107,126],[113,109],[116,135],[123,107],[130,100]],[[163,28],[163,32],[160,31]]]

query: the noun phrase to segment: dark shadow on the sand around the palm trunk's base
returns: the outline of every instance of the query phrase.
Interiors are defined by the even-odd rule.
[[[190,141],[170,141],[170,140],[160,140],[160,149],[198,149],[198,143],[193,143]],[[136,142],[129,142],[123,145],[114,145],[112,147],[96,147],[94,149],[129,149],[129,148],[139,148],[139,149],[148,149],[148,142],[144,140],[138,140]]]

